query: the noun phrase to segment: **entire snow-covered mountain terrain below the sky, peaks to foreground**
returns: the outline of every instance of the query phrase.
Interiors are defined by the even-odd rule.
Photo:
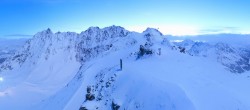
[[[248,51],[165,37],[118,26],[39,32],[0,65],[0,109],[250,110]],[[140,45],[152,54],[138,56]]]

